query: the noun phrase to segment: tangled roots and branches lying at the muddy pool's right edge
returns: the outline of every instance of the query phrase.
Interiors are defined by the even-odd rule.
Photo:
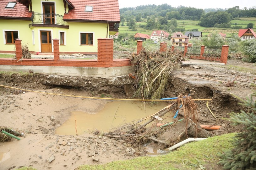
[[[157,137],[160,137],[164,132],[169,131],[172,129],[173,126],[178,121],[174,121],[174,124],[168,125],[166,127],[162,128],[156,128],[156,124],[160,121],[155,119],[155,116],[162,117],[169,111],[177,111],[179,109],[179,106],[182,104],[181,109],[184,111],[184,121],[186,122],[185,132],[184,134],[187,134],[187,129],[189,128],[189,122],[193,122],[193,124],[197,127],[197,112],[194,100],[190,96],[183,96],[180,95],[178,97],[178,100],[171,103],[169,106],[166,106],[162,110],[156,112],[155,114],[152,114],[148,117],[132,121],[128,124],[125,124],[123,126],[117,127],[111,132],[105,133],[104,135],[109,138],[116,138],[117,140],[122,141],[128,141],[133,144],[145,144],[149,140],[154,139],[155,141],[160,141],[157,139]],[[149,127],[145,127],[149,123],[152,124]],[[162,123],[169,123],[165,119],[161,121]],[[141,124],[143,123],[143,124]],[[168,141],[160,141],[162,143],[165,143],[166,146],[173,145],[173,143],[169,143]]]

